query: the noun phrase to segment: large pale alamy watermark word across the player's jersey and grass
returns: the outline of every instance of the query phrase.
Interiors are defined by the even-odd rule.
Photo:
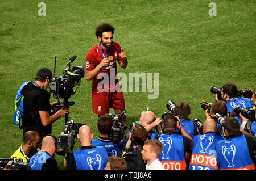
[[[98,92],[109,92],[109,89],[104,89],[102,87],[108,87],[110,85],[115,85],[115,80],[119,80],[119,86],[122,87],[119,89],[119,86],[115,86],[115,89],[110,89],[110,92],[143,92],[150,93],[148,94],[148,99],[156,99],[159,95],[159,73],[154,73],[154,85],[152,73],[129,73],[128,77],[125,73],[117,73],[115,76],[115,69],[110,69],[110,78],[109,74],[101,73],[101,76],[98,77],[97,91]],[[109,82],[110,81],[110,82]],[[128,84],[127,84],[128,82]],[[141,90],[140,90],[141,88]]]

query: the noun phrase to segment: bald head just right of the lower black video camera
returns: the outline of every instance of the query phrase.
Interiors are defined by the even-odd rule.
[[[90,127],[88,127],[88,125],[82,125],[79,128],[77,138],[79,139],[81,146],[90,146],[93,138]]]

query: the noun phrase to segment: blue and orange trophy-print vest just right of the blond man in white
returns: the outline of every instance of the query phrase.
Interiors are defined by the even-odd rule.
[[[183,137],[178,134],[161,134],[158,138],[163,144],[163,151],[158,159],[166,170],[185,170]]]

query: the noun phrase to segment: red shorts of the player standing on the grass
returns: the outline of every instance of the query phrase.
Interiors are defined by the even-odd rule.
[[[109,108],[114,110],[125,110],[123,92],[115,92],[109,95],[92,94],[93,112],[97,115],[109,113]]]

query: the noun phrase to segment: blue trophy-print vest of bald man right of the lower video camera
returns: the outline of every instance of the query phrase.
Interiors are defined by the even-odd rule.
[[[108,152],[102,146],[79,149],[73,152],[76,170],[104,170],[108,163]]]

